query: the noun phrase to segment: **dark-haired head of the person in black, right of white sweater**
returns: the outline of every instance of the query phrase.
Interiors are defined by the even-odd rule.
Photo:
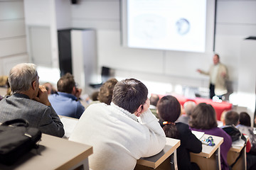
[[[164,96],[157,103],[161,120],[174,123],[181,115],[181,104],[174,96]]]

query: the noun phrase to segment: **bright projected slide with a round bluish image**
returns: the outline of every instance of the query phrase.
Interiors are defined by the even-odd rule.
[[[205,52],[206,0],[127,1],[127,46]]]

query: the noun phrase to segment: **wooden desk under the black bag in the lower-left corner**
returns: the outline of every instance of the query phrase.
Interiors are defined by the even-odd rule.
[[[89,169],[90,154],[92,147],[89,145],[43,134],[38,149],[32,149],[13,166],[0,164],[0,169]]]

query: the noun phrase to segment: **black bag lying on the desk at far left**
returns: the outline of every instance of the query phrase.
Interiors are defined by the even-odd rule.
[[[37,142],[41,140],[41,136],[40,130],[28,127],[27,120],[14,119],[2,123],[0,125],[0,163],[14,164],[23,154],[38,148]]]

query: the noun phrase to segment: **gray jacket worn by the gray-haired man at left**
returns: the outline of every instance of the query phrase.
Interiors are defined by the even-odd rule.
[[[48,135],[63,137],[64,128],[51,106],[31,100],[25,94],[13,94],[0,101],[0,122],[15,118],[28,120],[29,126]]]

